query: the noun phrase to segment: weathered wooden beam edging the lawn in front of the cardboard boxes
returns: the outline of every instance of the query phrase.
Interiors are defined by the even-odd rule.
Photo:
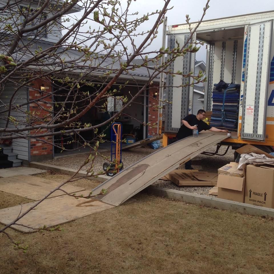
[[[265,217],[274,217],[274,209],[262,206],[253,206],[215,197],[208,197],[204,195],[184,192],[180,190],[173,190],[168,188],[160,188],[156,186],[149,186],[147,189],[148,194],[160,197],[167,197],[170,199],[180,200],[190,204],[203,205],[218,209],[236,211],[242,214],[259,215]]]

